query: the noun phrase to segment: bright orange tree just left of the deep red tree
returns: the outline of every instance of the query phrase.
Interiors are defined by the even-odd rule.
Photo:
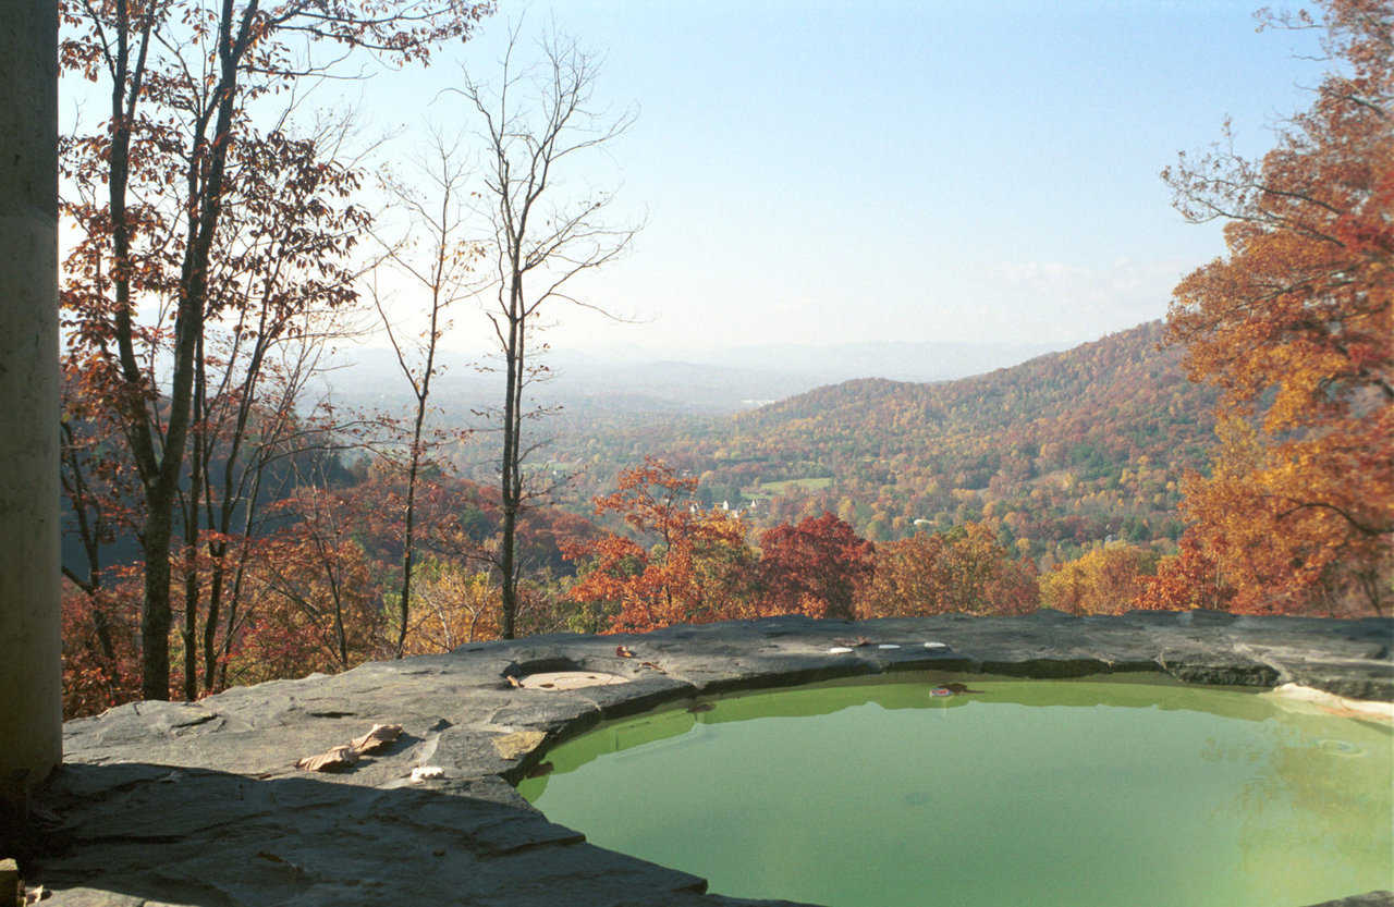
[[[595,515],[620,514],[648,546],[618,534],[563,545],[569,559],[590,560],[572,600],[613,614],[612,633],[754,616],[746,529],[722,511],[697,509],[696,489],[696,478],[655,457],[620,472],[619,489],[595,499]]]

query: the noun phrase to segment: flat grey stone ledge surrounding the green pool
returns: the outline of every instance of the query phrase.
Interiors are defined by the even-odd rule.
[[[592,847],[548,822],[512,782],[546,747],[601,720],[698,695],[903,670],[1158,672],[1394,702],[1391,642],[1390,619],[790,616],[474,644],[198,702],[135,702],[66,724],[66,763],[43,798],[61,821],[50,843],[63,848],[38,861],[38,881],[54,907],[786,904],[705,894],[700,878]],[[514,685],[549,672],[627,683]],[[298,758],[375,723],[403,733],[343,772],[296,770]],[[32,865],[26,874],[32,881]],[[1333,901],[1391,903],[1386,893]]]

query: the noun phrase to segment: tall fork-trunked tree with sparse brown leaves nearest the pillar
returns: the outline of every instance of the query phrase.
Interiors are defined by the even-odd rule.
[[[100,0],[61,6],[63,65],[105,81],[102,127],[75,137],[77,170],[105,198],[70,212],[89,255],[66,304],[89,313],[79,340],[103,359],[110,400],[144,496],[142,695],[169,698],[170,555],[174,509],[195,421],[199,344],[227,300],[209,293],[233,149],[261,98],[332,71],[347,52],[427,60],[488,11],[461,0]],[[311,49],[301,53],[302,49]],[[315,49],[329,49],[328,56]],[[328,61],[326,61],[328,60]],[[81,300],[74,300],[81,297]],[[169,309],[152,336],[152,313]],[[142,320],[144,319],[144,320]],[[167,380],[142,364],[167,334]],[[155,361],[155,357],[148,357]]]

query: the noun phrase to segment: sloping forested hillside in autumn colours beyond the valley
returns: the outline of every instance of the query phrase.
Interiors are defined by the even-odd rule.
[[[722,421],[595,433],[573,457],[604,485],[633,450],[658,451],[757,525],[831,510],[888,541],[986,521],[1054,559],[1110,535],[1171,542],[1179,479],[1214,439],[1214,393],[1186,380],[1161,333],[1153,322],[977,378],[868,378]]]

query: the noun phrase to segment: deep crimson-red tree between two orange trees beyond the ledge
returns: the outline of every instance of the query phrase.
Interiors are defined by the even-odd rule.
[[[875,546],[828,511],[760,536],[760,607],[852,620],[857,589],[871,578]]]

